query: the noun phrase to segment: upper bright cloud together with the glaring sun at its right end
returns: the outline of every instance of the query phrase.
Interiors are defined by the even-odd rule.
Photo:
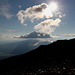
[[[54,13],[57,14],[58,5],[55,2],[50,4],[41,3],[32,7],[26,8],[26,10],[20,10],[17,13],[19,21],[24,24],[27,18],[33,22],[35,19],[48,19],[52,18]]]

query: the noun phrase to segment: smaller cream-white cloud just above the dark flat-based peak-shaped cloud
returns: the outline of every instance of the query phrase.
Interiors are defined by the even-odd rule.
[[[59,26],[60,22],[60,19],[47,19],[34,26],[34,29],[42,33],[51,34],[55,30],[55,27]]]

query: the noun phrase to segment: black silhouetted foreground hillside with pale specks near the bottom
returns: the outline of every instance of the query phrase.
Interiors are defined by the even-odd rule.
[[[58,40],[2,60],[0,75],[75,75],[75,39]]]

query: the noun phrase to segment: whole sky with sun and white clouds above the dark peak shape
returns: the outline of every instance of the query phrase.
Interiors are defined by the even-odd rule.
[[[74,19],[75,0],[0,0],[0,39],[34,31],[53,38],[73,38]]]

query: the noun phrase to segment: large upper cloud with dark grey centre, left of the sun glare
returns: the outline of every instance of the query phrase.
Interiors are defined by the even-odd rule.
[[[22,24],[25,22],[27,18],[30,19],[31,21],[33,21],[34,19],[48,18],[46,13],[44,13],[47,7],[48,5],[46,3],[42,3],[39,5],[35,5],[33,7],[29,7],[26,10],[20,10],[17,13],[17,17]],[[52,15],[51,12],[50,14]]]

